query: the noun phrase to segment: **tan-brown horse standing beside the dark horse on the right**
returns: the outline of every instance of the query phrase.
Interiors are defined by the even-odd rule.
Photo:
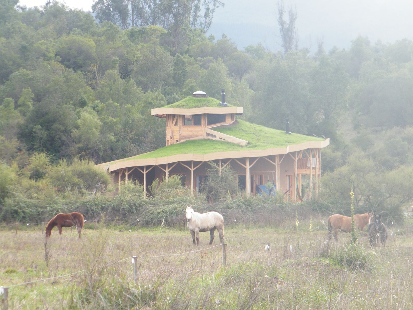
[[[370,224],[372,217],[374,213],[373,212],[367,212],[364,214],[355,214],[354,215],[354,227],[360,228],[360,230],[363,230],[363,228]],[[337,238],[337,232],[341,230],[344,232],[350,232],[351,231],[351,217],[349,216],[344,216],[341,214],[335,214],[335,215],[330,215],[328,217],[328,239],[327,242],[331,240],[331,235],[334,233],[334,238],[335,241],[338,241]]]

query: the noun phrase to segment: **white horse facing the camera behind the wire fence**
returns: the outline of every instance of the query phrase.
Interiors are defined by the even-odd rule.
[[[215,237],[215,229],[218,229],[219,240],[221,243],[224,243],[224,218],[221,214],[215,211],[201,214],[195,212],[194,209],[192,209],[192,205],[189,207],[186,205],[185,207],[186,222],[194,244],[196,240],[199,246],[199,231],[209,231],[209,234],[211,235],[209,244],[212,244]]]

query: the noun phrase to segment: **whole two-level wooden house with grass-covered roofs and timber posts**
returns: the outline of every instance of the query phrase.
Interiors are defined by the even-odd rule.
[[[212,161],[220,169],[230,164],[247,196],[268,182],[290,201],[318,193],[321,149],[329,145],[329,139],[237,120],[236,115],[242,113],[242,107],[225,103],[224,93],[220,102],[195,92],[152,109],[153,116],[166,119],[164,148],[97,166],[109,171],[119,187],[123,181],[138,180],[145,192],[154,179],[167,180],[178,174],[193,195]]]

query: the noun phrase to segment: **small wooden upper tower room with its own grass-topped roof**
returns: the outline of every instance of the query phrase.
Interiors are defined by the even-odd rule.
[[[233,140],[234,137],[224,137],[212,130],[216,126],[233,124],[235,114],[243,112],[242,107],[225,103],[224,91],[221,97],[220,102],[202,91],[196,91],[192,96],[176,103],[152,109],[152,115],[166,119],[166,145],[195,139],[219,139],[247,144],[247,141]]]

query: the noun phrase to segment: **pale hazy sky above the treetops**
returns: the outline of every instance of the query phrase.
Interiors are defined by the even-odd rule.
[[[237,43],[239,49],[261,42],[264,47],[280,49],[278,24],[275,19],[278,1],[274,0],[222,0],[210,31],[215,38],[225,33]],[[27,7],[44,5],[46,0],[20,0]],[[85,11],[93,0],[66,0],[66,5]],[[291,0],[284,7],[297,9],[297,29],[300,47],[313,51],[320,39],[329,50],[333,46],[348,48],[358,35],[367,36],[371,43],[377,40],[394,43],[408,38],[413,40],[413,2],[407,0]]]

